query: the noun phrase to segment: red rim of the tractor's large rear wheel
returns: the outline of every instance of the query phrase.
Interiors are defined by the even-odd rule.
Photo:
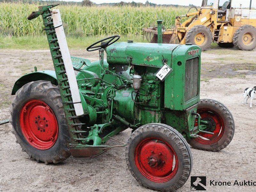
[[[58,137],[58,122],[52,109],[41,100],[28,100],[20,110],[20,129],[34,148],[51,148]]]

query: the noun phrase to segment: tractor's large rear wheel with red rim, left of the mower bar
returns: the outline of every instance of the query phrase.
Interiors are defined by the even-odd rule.
[[[41,103],[41,105],[36,105],[36,102]],[[42,103],[45,103],[48,106]],[[38,106],[46,106],[46,112],[43,112],[42,114],[41,111],[43,111],[43,109],[41,111],[36,110],[38,109],[36,108]],[[26,109],[28,109],[28,111],[25,111]],[[36,112],[33,110],[36,110]],[[12,102],[10,112],[10,123],[12,124],[12,133],[17,139],[16,143],[20,144],[22,151],[25,151],[30,158],[36,159],[38,163],[42,161],[45,164],[56,164],[64,161],[70,156],[70,137],[68,133],[68,126],[64,115],[60,92],[57,86],[52,85],[50,81],[42,80],[25,84],[16,92],[16,96]],[[29,116],[32,116],[33,114],[33,119],[37,113],[38,116],[40,116],[40,114],[45,116],[46,114],[46,118],[43,117],[44,120],[42,120],[42,116],[37,116],[38,118],[36,118],[38,122],[35,120],[33,120],[33,123],[30,120],[27,122],[27,120],[23,120],[23,117],[24,119],[27,117],[26,113],[28,113]],[[49,125],[44,124],[45,122],[47,123],[47,118]],[[39,121],[41,123],[40,125]],[[21,129],[25,131],[22,132]],[[54,130],[57,132],[52,133]],[[31,132],[35,134],[32,134]],[[46,137],[42,139],[42,136],[44,137],[43,134],[46,134],[48,139],[52,136],[52,143],[50,143],[50,140],[46,140]],[[30,137],[28,135],[30,135]],[[37,138],[39,139],[37,140]],[[39,145],[36,143],[37,141],[39,142]],[[48,145],[45,147],[43,144],[40,144],[40,141],[41,143],[47,143]]]

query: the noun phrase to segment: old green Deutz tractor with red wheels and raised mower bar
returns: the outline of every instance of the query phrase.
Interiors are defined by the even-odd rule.
[[[125,146],[129,170],[142,186],[173,191],[192,169],[188,143],[207,151],[227,147],[234,119],[220,102],[199,99],[198,46],[116,42],[115,35],[87,47],[100,60],[72,57],[54,6],[40,6],[28,19],[42,15],[55,71],[35,68],[12,90],[12,132],[30,158],[56,164]],[[113,138],[127,128],[127,143]],[[106,145],[109,139],[121,144]]]

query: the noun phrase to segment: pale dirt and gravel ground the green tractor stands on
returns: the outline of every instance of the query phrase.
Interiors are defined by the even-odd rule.
[[[84,50],[72,50],[71,55],[98,59],[97,52],[89,54]],[[207,191],[256,191],[256,186],[233,185],[236,180],[238,183],[244,180],[256,182],[256,100],[253,108],[241,104],[244,88],[256,86],[255,60],[255,50],[211,49],[202,53],[200,97],[224,103],[236,124],[233,140],[220,152],[191,149],[193,170],[190,176],[206,176]],[[38,70],[52,69],[50,52],[0,50],[0,120],[9,118],[14,82],[32,71],[34,66]],[[128,171],[124,148],[109,150],[93,159],[69,157],[63,163],[45,165],[21,152],[11,129],[10,124],[0,125],[0,191],[152,191],[141,187]],[[115,137],[126,142],[130,134],[131,130],[126,130]],[[114,143],[108,141],[109,145]],[[210,186],[210,180],[230,181],[231,186]],[[190,178],[177,191],[190,191]]]

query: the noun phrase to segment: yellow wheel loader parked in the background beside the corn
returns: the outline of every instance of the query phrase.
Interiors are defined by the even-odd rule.
[[[163,43],[192,43],[205,51],[213,41],[220,47],[235,46],[239,50],[253,50],[256,47],[256,10],[251,10],[252,0],[250,6],[248,4],[249,9],[241,8],[245,1],[240,4],[239,9],[234,8],[236,2],[203,0],[200,10],[191,7],[195,8],[196,12],[177,16],[174,28],[162,28]],[[181,23],[182,19],[186,20]],[[158,42],[157,28],[142,30],[151,43]]]

